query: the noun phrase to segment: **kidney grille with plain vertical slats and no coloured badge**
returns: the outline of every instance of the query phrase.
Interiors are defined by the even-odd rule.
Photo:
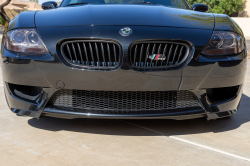
[[[61,44],[61,54],[67,65],[90,70],[116,69],[122,60],[121,46],[113,41],[67,41]]]

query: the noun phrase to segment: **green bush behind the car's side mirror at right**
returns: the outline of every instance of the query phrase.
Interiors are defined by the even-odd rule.
[[[243,10],[245,0],[187,0],[189,5],[203,3],[209,6],[209,12],[232,16]]]

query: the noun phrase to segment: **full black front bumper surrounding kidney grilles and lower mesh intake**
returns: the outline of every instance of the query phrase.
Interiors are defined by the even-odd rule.
[[[23,116],[40,118],[42,116],[64,118],[136,118],[136,119],[190,119],[207,117],[217,119],[234,114],[237,111],[244,84],[247,60],[203,61],[199,62],[198,55],[206,45],[212,30],[185,29],[158,27],[154,33],[156,39],[175,38],[188,40],[195,47],[194,57],[182,69],[159,72],[138,72],[129,66],[129,45],[139,39],[150,39],[151,27],[133,27],[137,36],[129,36],[126,40],[121,37],[118,30],[120,26],[113,27],[50,27],[38,28],[38,32],[48,47],[50,54],[42,57],[22,57],[8,52],[2,46],[2,72],[5,82],[5,94],[10,109]],[[66,32],[71,33],[66,33]],[[166,33],[167,31],[167,33]],[[65,32],[65,33],[64,33]],[[98,33],[97,33],[98,32]],[[200,34],[198,40],[195,35]],[[58,55],[55,47],[58,41],[68,38],[102,38],[116,39],[123,48],[123,63],[116,71],[87,71],[66,66]],[[246,51],[241,54],[246,57]],[[13,61],[12,61],[13,60]],[[8,83],[41,87],[39,100],[28,102],[13,95]],[[220,103],[211,103],[207,98],[207,89],[239,86],[237,94],[231,99]],[[72,113],[60,109],[46,107],[51,96],[60,88],[77,90],[103,90],[103,91],[192,91],[202,103],[202,109],[179,111],[178,113],[150,114],[150,115],[106,115]]]

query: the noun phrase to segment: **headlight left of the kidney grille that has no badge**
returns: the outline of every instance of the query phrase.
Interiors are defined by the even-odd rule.
[[[4,47],[21,55],[44,55],[49,51],[35,29],[17,29],[4,36]]]

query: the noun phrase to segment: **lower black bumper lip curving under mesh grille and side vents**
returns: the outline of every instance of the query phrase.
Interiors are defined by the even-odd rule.
[[[90,114],[71,112],[63,109],[47,107],[50,97],[58,90],[55,88],[43,88],[39,98],[35,103],[27,102],[15,96],[6,83],[5,95],[8,105],[13,113],[20,116],[30,116],[40,118],[42,116],[74,119],[74,118],[108,118],[108,119],[193,119],[205,117],[208,120],[227,117],[235,114],[239,107],[243,86],[239,86],[237,94],[227,100],[217,104],[212,104],[206,94],[206,90],[192,90],[201,102],[202,108],[184,108],[178,112],[158,113],[158,114]]]

